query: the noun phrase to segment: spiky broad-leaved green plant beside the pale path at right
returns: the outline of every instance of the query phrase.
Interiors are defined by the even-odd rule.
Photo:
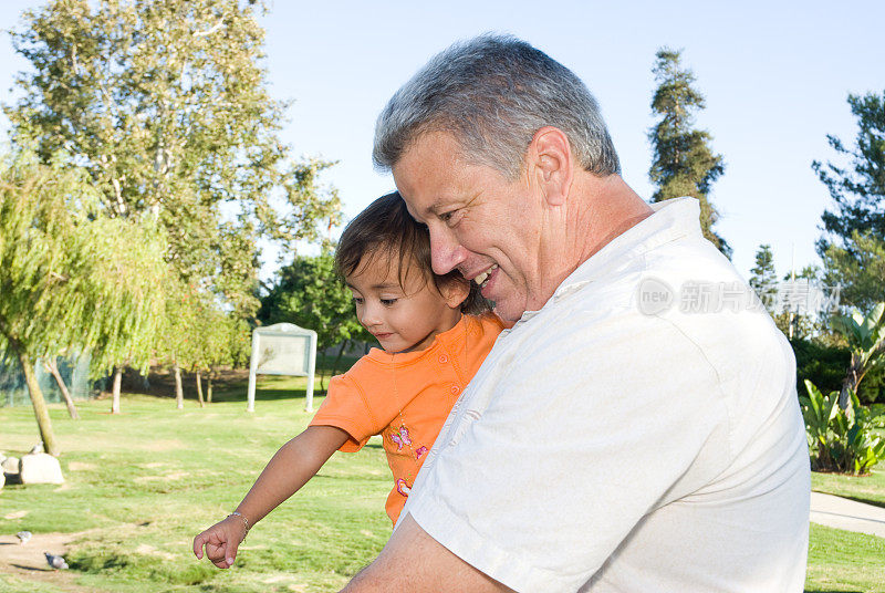
[[[823,395],[810,381],[805,381],[808,397],[801,396],[802,418],[809,440],[811,469],[843,474],[866,474],[881,459],[885,459],[885,440],[876,428],[885,426],[885,414],[861,405],[857,394],[851,392],[845,409],[839,407],[839,391]]]

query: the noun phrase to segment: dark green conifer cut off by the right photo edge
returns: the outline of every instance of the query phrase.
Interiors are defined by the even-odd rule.
[[[826,136],[847,164],[812,163],[834,202],[821,217],[818,252],[827,283],[842,284],[847,304],[868,309],[885,300],[885,92],[850,94],[848,105],[857,118],[854,146]]]

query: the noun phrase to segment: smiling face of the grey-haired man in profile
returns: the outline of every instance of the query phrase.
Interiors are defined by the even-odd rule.
[[[525,178],[508,180],[460,156],[447,133],[421,135],[394,166],[412,216],[430,230],[434,271],[458,269],[508,321],[540,309],[543,210]]]

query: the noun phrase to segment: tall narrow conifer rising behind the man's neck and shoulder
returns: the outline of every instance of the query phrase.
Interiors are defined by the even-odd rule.
[[[652,72],[658,87],[652,98],[652,112],[660,119],[648,132],[654,150],[648,176],[657,186],[652,200],[697,198],[704,237],[730,258],[731,248],[712,229],[719,214],[709,199],[710,186],[725,171],[725,162],[710,147],[710,133],[694,127],[695,114],[705,107],[704,95],[693,86],[695,74],[681,66],[681,51],[662,48],[656,56]]]

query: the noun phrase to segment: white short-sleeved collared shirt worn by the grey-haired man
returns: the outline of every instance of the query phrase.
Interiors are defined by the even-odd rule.
[[[501,334],[403,517],[520,592],[801,592],[792,350],[697,201],[654,208]]]

